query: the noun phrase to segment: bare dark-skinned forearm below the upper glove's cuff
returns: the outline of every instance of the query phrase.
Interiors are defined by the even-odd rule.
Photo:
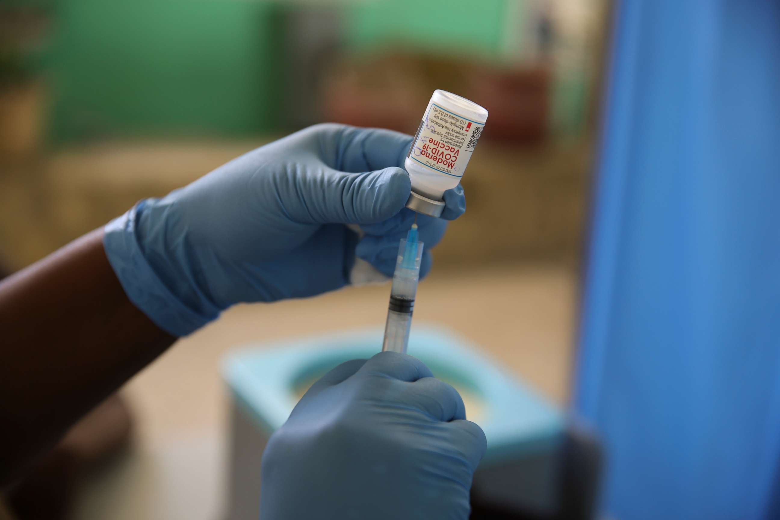
[[[0,282],[0,486],[176,341],[127,299],[102,235]]]

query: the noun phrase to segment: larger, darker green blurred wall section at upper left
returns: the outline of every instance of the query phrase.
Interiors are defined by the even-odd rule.
[[[59,3],[52,140],[271,129],[277,14],[262,2],[233,0]]]

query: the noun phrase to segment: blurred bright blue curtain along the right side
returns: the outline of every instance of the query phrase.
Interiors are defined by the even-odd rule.
[[[780,518],[780,2],[613,23],[574,396],[605,511]]]

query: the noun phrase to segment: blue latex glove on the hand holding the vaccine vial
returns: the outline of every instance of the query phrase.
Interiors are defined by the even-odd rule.
[[[105,251],[129,299],[171,334],[189,334],[238,302],[341,288],[360,257],[390,276],[413,221],[400,168],[412,137],[312,126],[251,151],[105,227]],[[466,208],[445,193],[442,218]],[[360,225],[362,239],[346,227]],[[420,268],[446,222],[420,215]]]

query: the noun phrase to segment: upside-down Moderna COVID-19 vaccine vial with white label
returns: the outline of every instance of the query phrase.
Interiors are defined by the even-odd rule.
[[[488,111],[480,105],[445,90],[434,91],[404,161],[412,180],[406,207],[441,215],[441,197],[458,186],[486,121]]]

